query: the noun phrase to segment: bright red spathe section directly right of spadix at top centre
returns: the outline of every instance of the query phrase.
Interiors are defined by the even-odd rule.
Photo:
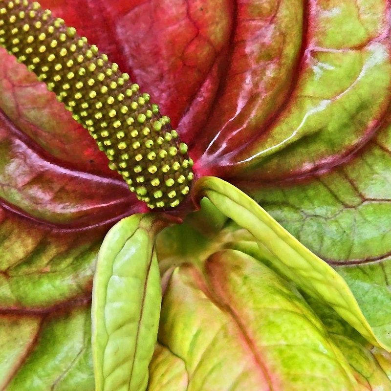
[[[215,98],[234,12],[229,0],[216,0],[213,7],[208,0],[152,0],[123,4],[117,13],[115,28],[122,37],[132,77],[142,88],[153,91],[153,99],[162,112],[170,113],[173,126],[194,99],[202,101],[187,115],[184,141],[187,135],[196,135],[195,124],[202,126],[205,117],[204,105]],[[125,38],[125,32],[131,40]],[[206,87],[208,83],[214,86]]]

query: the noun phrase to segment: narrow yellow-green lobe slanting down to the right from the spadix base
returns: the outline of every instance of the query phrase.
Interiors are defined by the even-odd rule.
[[[215,177],[201,178],[194,191],[198,199],[208,197],[222,213],[247,229],[283,276],[335,309],[368,341],[387,348],[381,336],[378,338],[374,334],[344,279],[282,228],[253,199]]]

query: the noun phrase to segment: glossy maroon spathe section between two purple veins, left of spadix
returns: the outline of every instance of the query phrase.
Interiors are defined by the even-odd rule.
[[[0,196],[8,205],[60,225],[95,225],[131,213],[135,202],[125,183],[66,169],[28,144],[3,117]]]

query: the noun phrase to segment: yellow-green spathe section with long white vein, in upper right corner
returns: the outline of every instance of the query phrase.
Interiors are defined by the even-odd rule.
[[[284,89],[288,95],[283,105],[274,99],[277,114],[257,121],[250,134],[246,131],[250,132],[251,126],[244,130],[236,126],[221,138],[217,131],[205,152],[201,148],[200,170],[224,177],[276,180],[329,167],[362,147],[385,116],[391,83],[386,2],[372,1],[370,10],[368,4],[357,5],[353,0],[312,1],[298,7],[289,4],[288,16],[306,7],[306,24],[299,32],[303,34],[301,62],[291,68],[297,78],[294,85]],[[284,1],[279,5],[280,11]],[[353,37],[344,45],[341,25],[345,34]],[[251,77],[248,82],[260,84]],[[230,107],[234,105],[235,100],[230,102]],[[251,118],[257,114],[252,113]],[[232,141],[239,132],[241,140]],[[219,166],[214,161],[219,161]]]

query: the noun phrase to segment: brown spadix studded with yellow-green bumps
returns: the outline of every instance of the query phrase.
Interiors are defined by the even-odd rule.
[[[0,44],[72,111],[139,199],[152,209],[179,205],[193,179],[187,146],[117,64],[27,0],[0,0]]]

